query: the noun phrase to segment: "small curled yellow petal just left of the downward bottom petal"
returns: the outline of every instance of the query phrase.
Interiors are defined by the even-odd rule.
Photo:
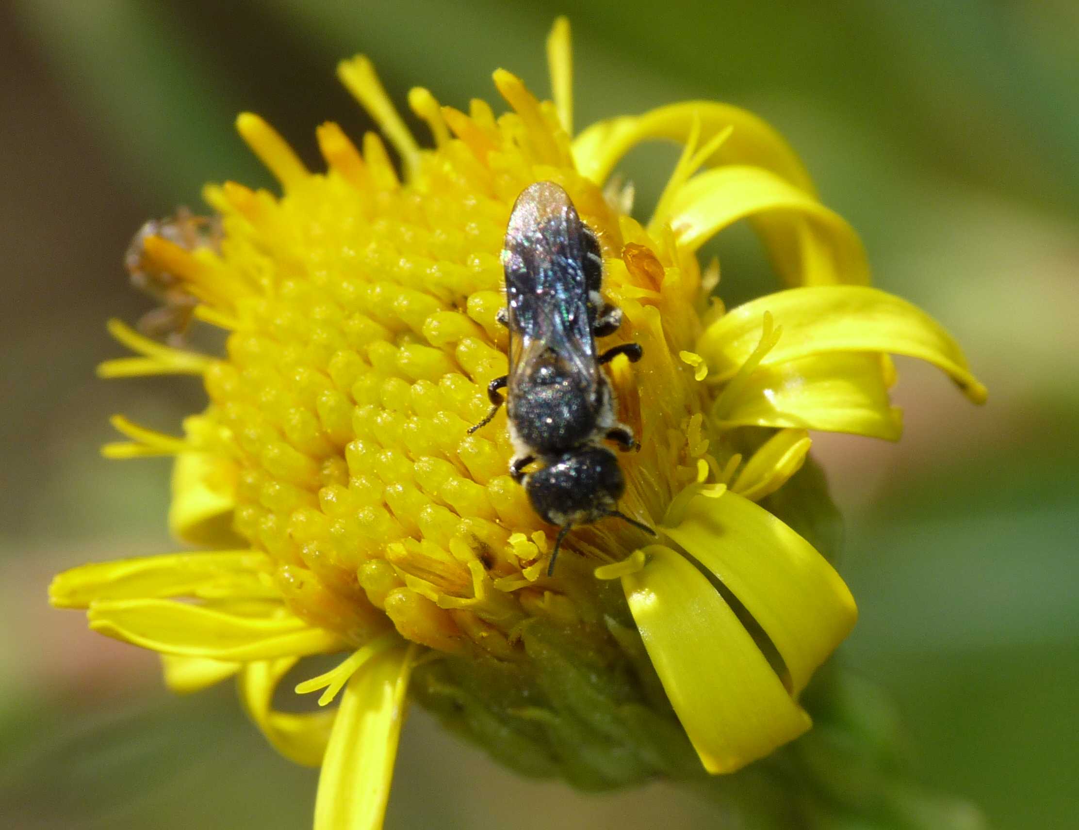
[[[337,713],[301,715],[277,711],[271,706],[277,684],[296,663],[296,658],[282,658],[246,664],[237,683],[240,701],[274,749],[298,764],[318,766]]]

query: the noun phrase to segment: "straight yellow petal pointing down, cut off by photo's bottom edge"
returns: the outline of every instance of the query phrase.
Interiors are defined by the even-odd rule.
[[[315,830],[381,830],[414,650],[383,651],[349,681],[318,776]]]

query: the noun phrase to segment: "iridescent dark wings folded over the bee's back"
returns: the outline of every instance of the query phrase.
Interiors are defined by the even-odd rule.
[[[565,191],[538,182],[517,198],[502,262],[509,309],[510,370],[545,348],[595,383],[599,368],[588,316],[585,227]]]

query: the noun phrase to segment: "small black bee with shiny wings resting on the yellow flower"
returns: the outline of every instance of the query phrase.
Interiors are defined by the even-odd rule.
[[[615,418],[614,391],[600,366],[618,355],[637,362],[642,352],[637,343],[626,343],[597,354],[596,337],[618,330],[622,310],[600,295],[599,241],[559,185],[537,182],[517,197],[502,264],[507,306],[498,321],[509,329],[509,374],[488,386],[491,412],[468,432],[507,404],[517,451],[510,475],[523,483],[540,517],[561,528],[550,576],[559,545],[576,525],[615,516],[655,536],[618,512],[626,481],[603,445],[610,440],[624,451],[639,448],[633,431]],[[543,467],[525,472],[534,461]]]

